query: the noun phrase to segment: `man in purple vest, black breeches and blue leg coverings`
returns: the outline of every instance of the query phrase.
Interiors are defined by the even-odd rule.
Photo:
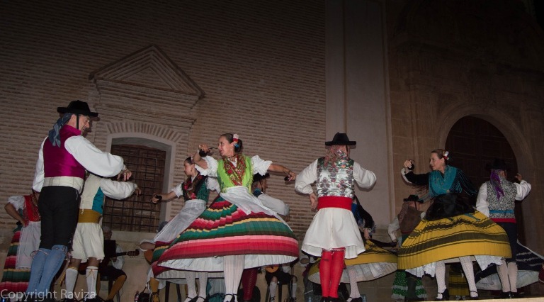
[[[62,117],[42,142],[36,163],[33,189],[41,192],[38,210],[42,235],[26,291],[33,298],[46,300],[53,298],[48,293],[50,284],[64,261],[77,225],[85,170],[102,177],[119,174],[125,180],[131,175],[123,158],[98,150],[81,135],[91,128],[91,117],[98,116],[86,102],[72,101],[57,111]]]

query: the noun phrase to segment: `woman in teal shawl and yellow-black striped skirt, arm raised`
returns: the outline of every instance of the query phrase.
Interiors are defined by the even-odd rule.
[[[399,269],[416,276],[436,274],[438,295],[436,301],[448,299],[444,260],[461,262],[468,281],[470,298],[477,299],[471,256],[482,269],[489,264],[501,264],[502,257],[510,257],[510,245],[504,230],[472,206],[458,200],[463,190],[475,196],[470,179],[455,167],[448,165],[448,152],[431,152],[431,172],[414,174],[414,162],[404,162],[402,176],[409,183],[426,186],[433,203],[414,231],[399,248]]]

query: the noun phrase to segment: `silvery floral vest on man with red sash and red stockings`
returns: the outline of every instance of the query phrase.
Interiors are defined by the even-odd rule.
[[[353,163],[351,159],[324,164],[325,158],[317,160],[317,197],[340,196],[353,198]]]

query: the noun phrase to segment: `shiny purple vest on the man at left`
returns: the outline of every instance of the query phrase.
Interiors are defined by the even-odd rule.
[[[79,177],[85,178],[85,168],[77,162],[65,148],[64,142],[74,135],[81,135],[81,130],[64,125],[60,129],[60,147],[53,147],[50,140],[43,144],[43,166],[45,178]]]

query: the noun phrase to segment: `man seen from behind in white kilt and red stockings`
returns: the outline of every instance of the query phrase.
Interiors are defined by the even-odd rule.
[[[349,140],[346,133],[336,133],[325,145],[330,146],[326,155],[300,172],[295,190],[308,194],[312,210],[317,209],[302,242],[302,251],[321,257],[319,279],[322,297],[324,301],[335,302],[339,301],[338,286],[344,258],[353,259],[365,251],[351,213],[355,184],[368,189],[374,185],[376,176],[349,157],[350,147],[356,142]],[[313,183],[317,194],[312,189]]]

